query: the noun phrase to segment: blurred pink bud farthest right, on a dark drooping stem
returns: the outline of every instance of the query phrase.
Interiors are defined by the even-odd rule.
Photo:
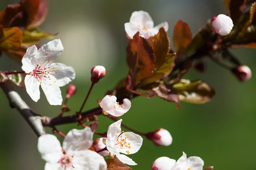
[[[244,82],[252,77],[252,71],[247,65],[241,65],[231,69],[231,72],[236,76],[239,81]]]

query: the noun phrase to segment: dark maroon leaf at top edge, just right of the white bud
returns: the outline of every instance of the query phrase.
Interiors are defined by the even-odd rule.
[[[230,17],[233,20],[233,24],[236,25],[239,17],[241,16],[241,6],[244,4],[244,0],[230,0]]]

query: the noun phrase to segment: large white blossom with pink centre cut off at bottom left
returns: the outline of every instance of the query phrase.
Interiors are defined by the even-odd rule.
[[[90,127],[70,130],[63,141],[63,147],[54,135],[40,136],[38,150],[47,162],[44,170],[106,170],[105,159],[88,150],[92,143],[93,132]]]

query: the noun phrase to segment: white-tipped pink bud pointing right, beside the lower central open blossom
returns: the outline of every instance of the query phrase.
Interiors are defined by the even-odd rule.
[[[146,135],[157,146],[169,146],[172,144],[172,136],[166,129],[160,128],[154,132],[150,132]]]

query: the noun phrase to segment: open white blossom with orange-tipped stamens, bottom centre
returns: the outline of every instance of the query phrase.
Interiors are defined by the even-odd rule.
[[[127,155],[137,153],[140,150],[143,139],[140,135],[137,135],[133,132],[121,131],[121,122],[122,119],[114,122],[108,127],[106,140],[107,149],[111,154],[116,155],[116,157],[122,161],[122,163],[137,165],[128,156],[120,153]]]

